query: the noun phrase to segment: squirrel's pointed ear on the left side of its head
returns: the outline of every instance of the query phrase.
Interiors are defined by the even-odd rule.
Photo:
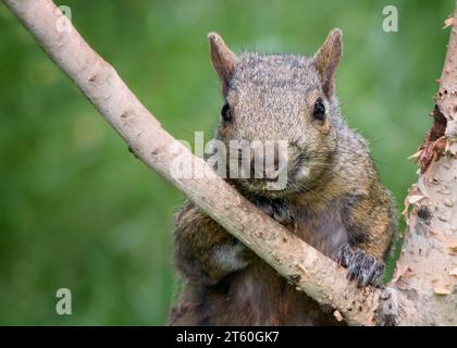
[[[217,71],[222,83],[222,91],[226,92],[226,87],[235,69],[236,55],[225,45],[224,40],[217,33],[208,34],[212,66]]]

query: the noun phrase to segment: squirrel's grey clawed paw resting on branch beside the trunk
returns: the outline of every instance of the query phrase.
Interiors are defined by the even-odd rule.
[[[347,269],[347,277],[356,279],[358,287],[373,285],[382,287],[382,276],[384,274],[385,263],[376,260],[372,256],[363,252],[361,249],[353,250],[346,244],[337,254],[337,262]]]

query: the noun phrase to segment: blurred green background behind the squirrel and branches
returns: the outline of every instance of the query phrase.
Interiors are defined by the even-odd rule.
[[[453,1],[66,0],[86,40],[175,137],[211,134],[219,85],[206,35],[235,50],[312,54],[344,30],[337,92],[398,208],[428,130]],[[399,32],[382,30],[396,5]],[[151,173],[0,4],[0,324],[164,324],[176,293],[173,213]],[[72,290],[73,314],[55,313]]]

